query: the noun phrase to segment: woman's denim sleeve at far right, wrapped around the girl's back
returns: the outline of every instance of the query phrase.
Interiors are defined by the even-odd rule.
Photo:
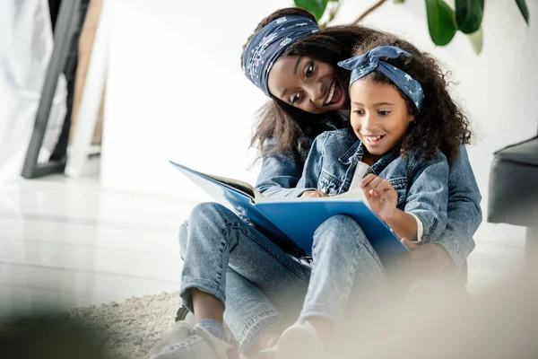
[[[456,269],[464,267],[474,249],[473,234],[482,223],[482,196],[464,144],[448,176],[447,229],[433,242],[442,245],[454,259]]]

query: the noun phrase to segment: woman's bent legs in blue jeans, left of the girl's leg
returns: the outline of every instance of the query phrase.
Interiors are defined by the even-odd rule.
[[[213,314],[226,305],[227,323],[242,349],[281,320],[265,292],[291,299],[304,297],[308,266],[280,250],[229,209],[214,203],[196,206],[181,232],[185,263],[180,294],[184,304],[194,311],[197,320],[204,319],[196,312],[199,292],[221,304],[212,305]],[[203,301],[208,302],[206,297]]]

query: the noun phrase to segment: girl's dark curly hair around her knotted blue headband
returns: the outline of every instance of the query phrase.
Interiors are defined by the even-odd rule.
[[[354,56],[363,55],[378,46],[395,46],[412,54],[412,57],[382,58],[421,83],[424,101],[419,113],[412,100],[404,95],[384,74],[373,72],[368,77],[376,83],[390,83],[400,92],[407,109],[415,120],[408,128],[400,144],[400,153],[407,155],[412,148],[420,147],[426,158],[437,150],[447,156],[449,163],[456,160],[461,144],[469,144],[473,136],[468,119],[448,93],[447,74],[429,53],[421,52],[411,43],[386,34],[357,44]]]

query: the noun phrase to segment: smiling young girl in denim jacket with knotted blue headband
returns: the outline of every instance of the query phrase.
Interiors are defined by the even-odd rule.
[[[303,197],[334,196],[358,176],[372,210],[396,235],[429,242],[446,228],[449,163],[471,133],[434,59],[385,44],[362,44],[339,63],[352,71],[351,128],[316,138],[298,188],[312,188]],[[343,215],[329,221],[315,236],[303,309],[282,333],[278,358],[305,355],[305,348],[323,357],[320,338],[343,320],[351,293],[364,296],[386,280],[360,226]]]

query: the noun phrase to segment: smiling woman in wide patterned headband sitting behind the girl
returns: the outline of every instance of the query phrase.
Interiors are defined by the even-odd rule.
[[[299,30],[281,33],[282,39],[271,42],[273,32],[267,32],[267,26],[292,16],[302,17],[297,22]],[[242,65],[247,77],[272,99],[261,111],[252,140],[262,152],[256,187],[265,196],[316,193],[295,186],[314,137],[348,125],[345,110],[349,100],[343,89],[349,80],[336,63],[351,57],[358,42],[381,35],[387,36],[351,26],[318,31],[311,14],[297,8],[282,9],[260,22],[247,42]],[[268,50],[269,45],[281,48]],[[412,249],[404,262],[415,279],[423,273],[441,276],[461,271],[473,250],[472,236],[480,221],[466,219],[482,218],[481,198],[464,146],[451,165],[448,191],[448,223],[443,235],[435,243],[421,246],[404,240]],[[284,319],[300,311],[311,276],[308,259],[294,249],[275,246],[221,206],[195,207],[181,227],[180,245],[185,259],[181,295],[198,324],[192,329],[179,323],[155,348],[154,353],[161,353],[157,357],[197,357],[201,353],[226,357],[230,346],[221,340],[222,315],[241,350],[253,355],[278,337],[285,328]]]

